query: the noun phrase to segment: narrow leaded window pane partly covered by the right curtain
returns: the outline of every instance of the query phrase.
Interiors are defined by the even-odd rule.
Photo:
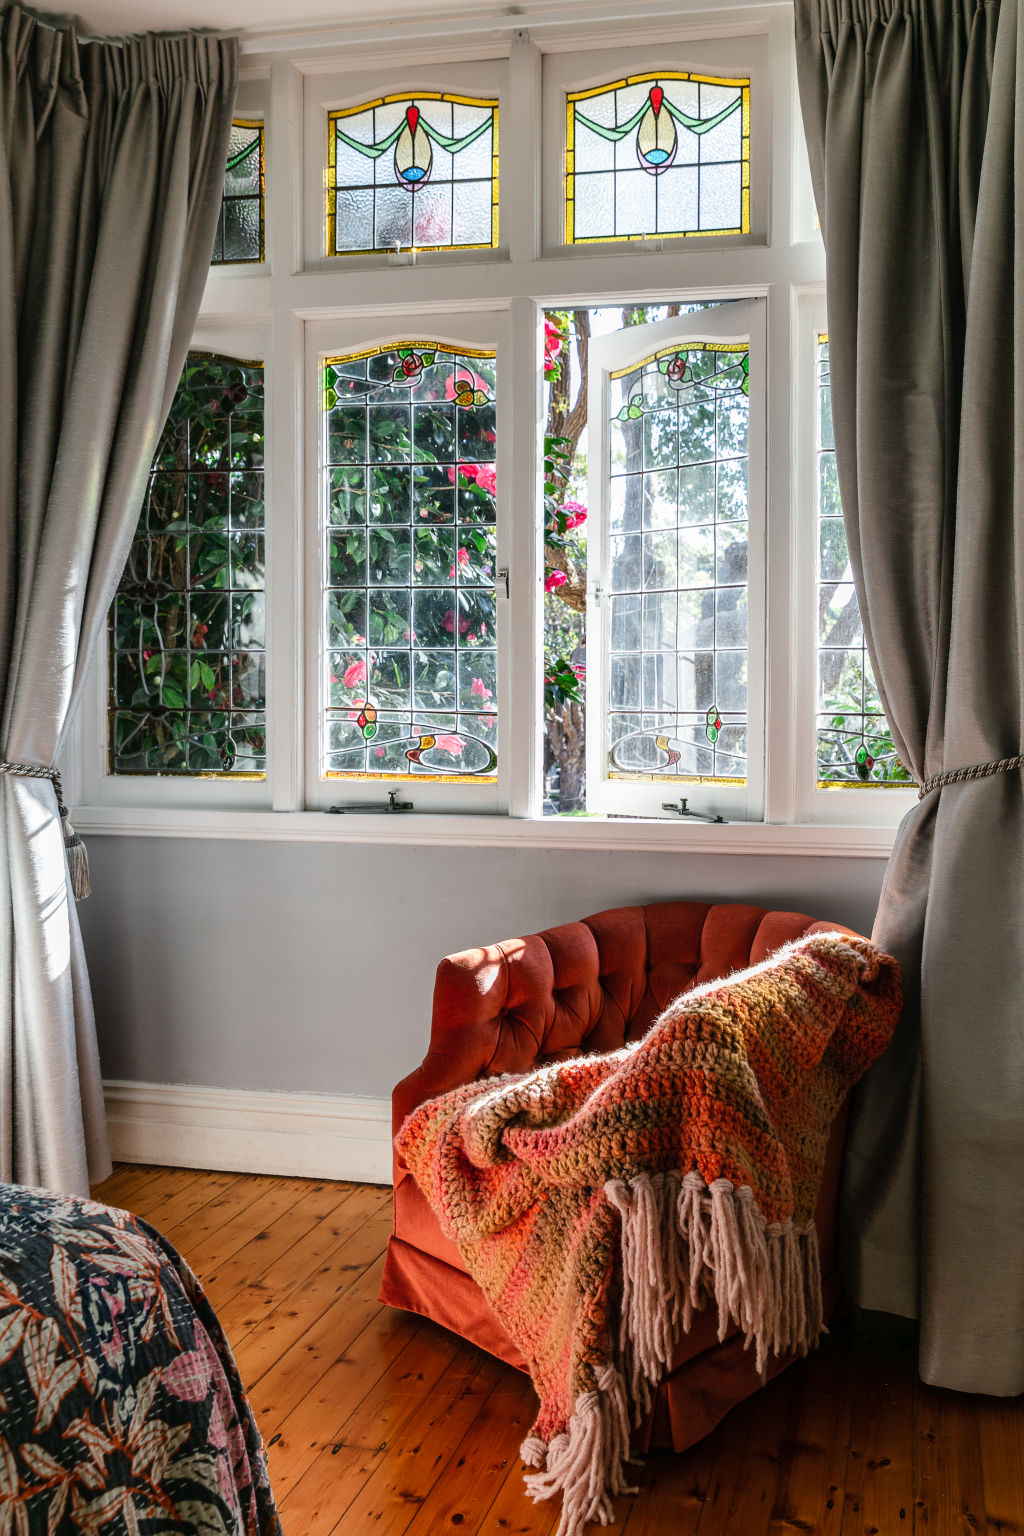
[[[832,436],[829,338],[818,336],[818,788],[906,786],[864,644]]]

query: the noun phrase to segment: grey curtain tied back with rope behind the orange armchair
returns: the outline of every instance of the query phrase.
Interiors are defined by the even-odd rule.
[[[1016,0],[795,0],[837,462],[918,782],[1024,750],[1024,69]],[[854,1107],[843,1266],[926,1381],[1024,1389],[1024,780],[904,819],[875,940],[907,1008]]]

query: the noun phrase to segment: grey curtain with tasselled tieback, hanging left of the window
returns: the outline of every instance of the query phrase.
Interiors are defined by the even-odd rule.
[[[49,766],[127,558],[213,247],[236,43],[0,8],[0,756]],[[0,774],[0,1177],[109,1169],[54,786]]]

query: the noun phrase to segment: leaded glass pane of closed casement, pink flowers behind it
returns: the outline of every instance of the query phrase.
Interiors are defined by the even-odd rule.
[[[329,358],[324,774],[497,771],[494,353]]]

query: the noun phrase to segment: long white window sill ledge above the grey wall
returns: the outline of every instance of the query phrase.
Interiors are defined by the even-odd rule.
[[[92,837],[212,837],[232,842],[399,843],[419,848],[557,848],[689,854],[887,859],[895,826],[723,826],[663,820],[507,816],[330,816],[325,811],[232,811],[78,806],[74,825]]]

